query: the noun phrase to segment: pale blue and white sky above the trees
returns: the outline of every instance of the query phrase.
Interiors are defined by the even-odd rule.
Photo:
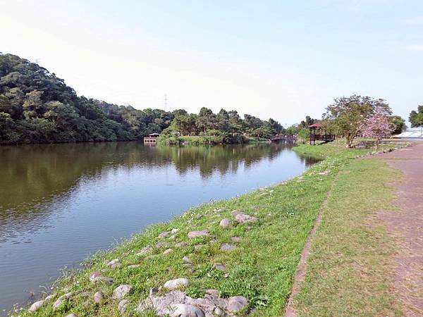
[[[423,104],[421,0],[0,0],[0,39],[78,95],[140,109],[290,125],[351,94],[406,120]]]

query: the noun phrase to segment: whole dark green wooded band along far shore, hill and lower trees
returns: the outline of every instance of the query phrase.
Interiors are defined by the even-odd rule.
[[[286,132],[275,120],[240,118],[233,110],[137,110],[78,97],[47,69],[0,53],[0,144],[133,140],[163,130],[168,135],[253,137]]]

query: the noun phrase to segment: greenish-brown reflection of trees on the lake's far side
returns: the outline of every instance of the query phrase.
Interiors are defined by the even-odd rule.
[[[69,197],[82,180],[101,179],[113,170],[141,167],[153,173],[173,164],[180,175],[199,170],[202,178],[207,178],[215,171],[236,173],[242,165],[253,168],[262,159],[276,159],[290,147],[144,147],[140,142],[0,147],[0,228],[13,230],[18,223],[47,217],[49,211],[54,212],[50,207]],[[302,161],[306,166],[315,162],[309,158]]]

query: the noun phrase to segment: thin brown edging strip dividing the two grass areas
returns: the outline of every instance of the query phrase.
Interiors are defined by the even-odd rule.
[[[312,249],[314,235],[316,235],[316,231],[319,228],[319,225],[321,223],[321,218],[323,216],[323,211],[328,205],[328,199],[332,194],[332,189],[335,186],[337,179],[338,179],[338,175],[336,175],[336,178],[332,182],[331,189],[329,190],[328,195],[326,199],[324,200],[323,205],[321,206],[319,214],[317,215],[317,218],[316,218],[316,222],[314,223],[313,229],[312,231],[310,231],[309,236],[307,238],[307,242],[305,243],[305,247],[302,250],[300,263],[298,263],[297,273],[295,273],[295,278],[293,282],[293,291],[291,292],[290,297],[288,299],[288,304],[286,304],[285,317],[295,317],[298,315],[297,309],[295,309],[294,299],[295,299],[295,296],[297,296],[297,294],[300,292],[301,283],[305,278],[305,273],[306,273],[305,270],[307,268],[307,259]]]

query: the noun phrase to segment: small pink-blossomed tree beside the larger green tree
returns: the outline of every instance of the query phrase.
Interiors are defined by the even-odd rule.
[[[376,149],[384,137],[391,137],[395,126],[390,122],[386,109],[376,107],[374,112],[365,117],[360,124],[360,133],[363,137],[376,139]]]

